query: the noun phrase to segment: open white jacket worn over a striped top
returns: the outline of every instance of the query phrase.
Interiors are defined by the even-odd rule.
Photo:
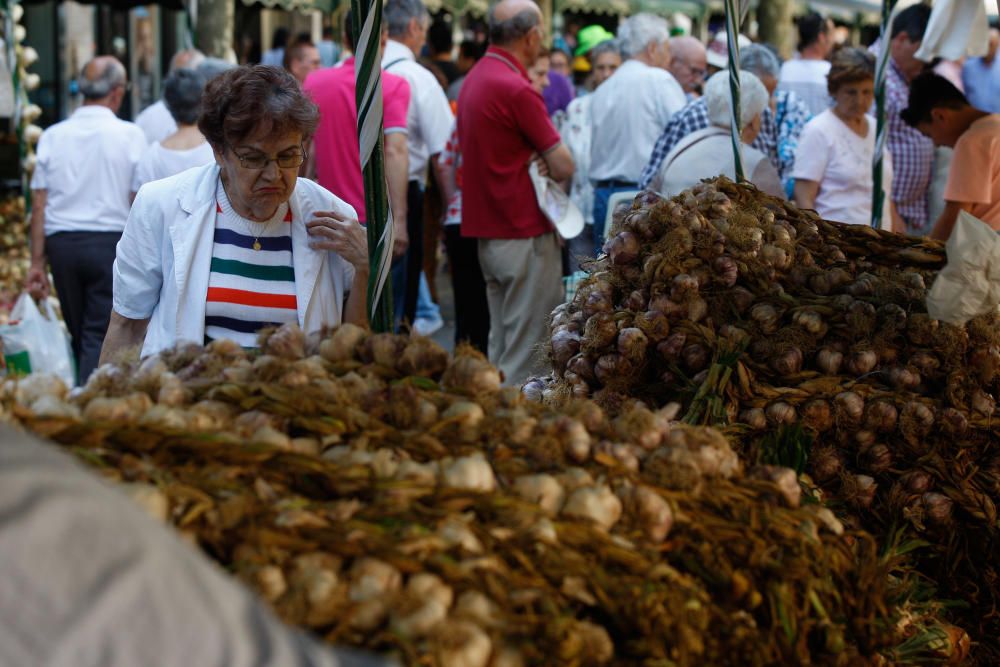
[[[139,190],[114,264],[114,310],[150,318],[142,356],[205,339],[205,301],[215,234],[216,164],[196,167]],[[305,223],[315,211],[357,219],[354,208],[304,178],[289,199],[299,326],[313,333],[340,324],[354,267],[334,252],[309,247]]]

